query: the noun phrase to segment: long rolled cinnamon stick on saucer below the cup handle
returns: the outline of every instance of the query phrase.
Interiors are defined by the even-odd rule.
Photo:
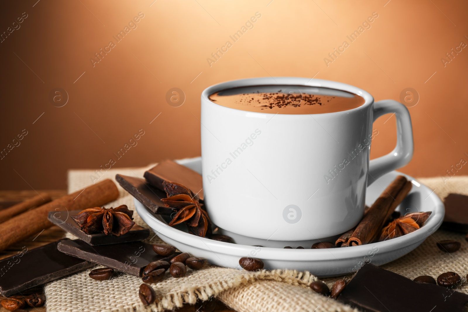
[[[402,175],[388,185],[379,198],[373,203],[366,216],[348,240],[349,246],[364,245],[372,242],[380,234],[385,221],[395,211],[402,200],[411,190],[411,182]]]

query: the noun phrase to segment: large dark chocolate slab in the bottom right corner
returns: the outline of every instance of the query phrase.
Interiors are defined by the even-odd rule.
[[[417,283],[367,263],[338,300],[364,312],[463,312],[468,295],[430,283]]]

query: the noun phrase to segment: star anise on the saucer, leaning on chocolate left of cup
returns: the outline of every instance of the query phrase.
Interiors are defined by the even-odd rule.
[[[164,181],[162,185],[168,196],[162,202],[175,211],[169,225],[184,222],[195,235],[205,237],[206,232],[211,231],[211,220],[202,208],[203,204],[199,203],[198,195],[179,183]]]

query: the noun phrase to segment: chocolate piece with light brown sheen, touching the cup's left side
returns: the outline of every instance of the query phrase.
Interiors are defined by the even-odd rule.
[[[203,181],[201,174],[190,168],[179,165],[172,160],[161,161],[157,166],[146,171],[143,176],[151,185],[161,190],[164,190],[162,186],[163,181],[183,184],[189,188],[193,194],[198,194],[200,200],[203,200]]]

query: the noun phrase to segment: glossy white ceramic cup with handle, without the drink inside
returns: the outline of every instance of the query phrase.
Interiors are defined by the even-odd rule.
[[[208,98],[252,85],[327,87],[358,94],[365,103],[289,115],[227,108]],[[380,133],[373,122],[389,113],[396,116],[395,149],[369,161],[371,139]],[[201,95],[201,124],[203,189],[213,223],[263,241],[310,241],[350,230],[363,216],[366,186],[413,155],[403,104],[374,102],[364,90],[328,80],[254,78],[208,87]]]

